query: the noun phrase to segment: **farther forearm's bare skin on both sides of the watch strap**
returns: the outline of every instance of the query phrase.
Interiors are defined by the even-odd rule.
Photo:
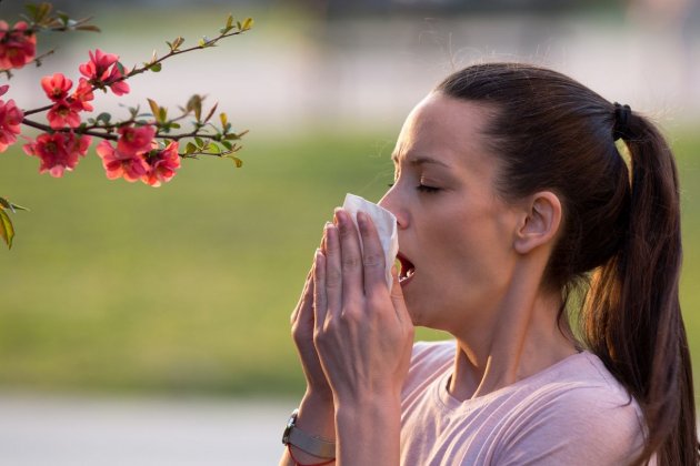
[[[307,392],[299,405],[297,426],[313,436],[334,440],[336,421],[332,398]],[[291,446],[291,448],[294,457],[301,464],[316,464],[328,460],[318,456],[309,455],[294,446]],[[334,463],[330,463],[329,466],[333,464]],[[289,455],[289,450],[287,448],[280,459],[280,466],[294,466],[294,460]]]

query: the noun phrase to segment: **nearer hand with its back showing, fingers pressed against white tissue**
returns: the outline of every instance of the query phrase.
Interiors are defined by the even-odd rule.
[[[336,211],[324,252],[313,267],[314,342],[338,399],[389,395],[399,399],[413,344],[413,325],[396,270],[387,288],[384,254],[377,230],[358,214],[360,239],[349,214]]]

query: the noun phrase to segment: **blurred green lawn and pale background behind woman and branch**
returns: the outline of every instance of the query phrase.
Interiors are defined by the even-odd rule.
[[[324,221],[347,192],[378,201],[410,109],[474,62],[528,61],[652,115],[682,178],[682,305],[700,373],[699,0],[56,1],[102,32],[43,34],[57,53],[10,81],[77,81],[88,50],[128,68],[166,40],[214,37],[228,13],[253,29],[176,57],[96,109],[219,102],[230,161],[184,161],[152,189],[108,181],[91,153],[63,179],[21,144],[0,154],[12,216],[0,250],[0,464],[267,465],[303,392],[289,337]],[[13,22],[21,1],[0,3]],[[426,331],[420,338],[442,335]]]

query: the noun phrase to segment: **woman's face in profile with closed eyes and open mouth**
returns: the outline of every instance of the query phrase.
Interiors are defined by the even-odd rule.
[[[380,201],[399,225],[401,287],[416,325],[460,333],[488,318],[510,286],[514,207],[499,199],[499,169],[482,133],[483,105],[432,93],[410,113]]]

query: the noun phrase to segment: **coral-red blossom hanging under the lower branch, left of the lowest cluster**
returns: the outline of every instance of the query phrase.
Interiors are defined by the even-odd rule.
[[[49,172],[51,176],[60,178],[66,170],[70,172],[76,168],[79,158],[88,153],[91,141],[90,136],[78,136],[72,132],[43,133],[23,149],[28,155],[41,159],[39,173]]]

